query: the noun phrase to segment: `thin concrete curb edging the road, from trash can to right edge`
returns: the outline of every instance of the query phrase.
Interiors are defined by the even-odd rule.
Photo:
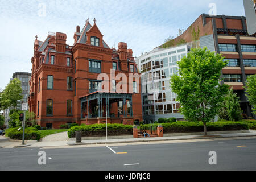
[[[131,140],[131,141],[113,141],[113,142],[88,142],[88,143],[67,143],[69,146],[80,146],[88,144],[111,144],[111,143],[139,143],[139,142],[160,142],[160,141],[175,141],[175,140],[193,140],[193,139],[211,139],[211,138],[239,138],[239,137],[256,137],[255,135],[249,136],[213,136],[213,137],[198,137],[198,138],[175,138],[175,139],[155,139],[155,140]]]

